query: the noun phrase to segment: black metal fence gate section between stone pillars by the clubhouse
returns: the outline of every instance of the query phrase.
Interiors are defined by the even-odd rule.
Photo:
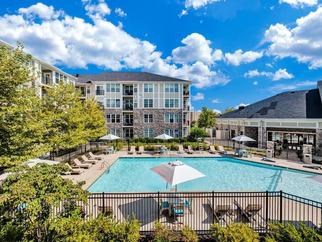
[[[294,144],[275,144],[274,157],[284,160],[303,161],[303,146]]]

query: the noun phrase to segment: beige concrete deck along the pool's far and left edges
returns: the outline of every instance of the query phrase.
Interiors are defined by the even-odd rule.
[[[100,153],[97,153],[100,154]],[[198,151],[194,154],[178,154],[176,151],[172,151],[168,155],[160,155],[156,154],[154,151],[145,151],[143,154],[137,155],[128,155],[127,151],[118,151],[117,153],[114,154],[109,154],[109,155],[104,155],[105,161],[107,161],[108,165],[111,166],[118,158],[140,158],[140,157],[164,157],[164,158],[169,158],[173,157],[173,159],[180,159],[183,157],[229,157],[229,158],[235,158],[235,159],[240,159],[244,161],[251,161],[255,163],[260,163],[260,164],[265,164],[265,165],[270,165],[270,166],[276,166],[276,167],[281,167],[281,168],[286,168],[286,169],[295,169],[298,171],[303,171],[303,172],[310,172],[313,173],[312,175],[322,175],[322,170],[315,170],[315,169],[310,169],[310,168],[304,168],[303,165],[305,165],[303,162],[299,161],[286,161],[282,159],[274,159],[276,162],[268,162],[268,161],[263,161],[262,156],[258,155],[252,155],[252,157],[238,157],[237,155],[234,155],[233,152],[228,151],[227,154],[211,154],[208,151],[204,151],[204,153],[199,153]],[[73,175],[74,183],[80,182],[80,181],[85,181],[86,184],[83,185],[83,189],[87,189],[93,182],[95,182],[105,171],[106,167],[101,169],[101,164],[103,161],[99,161],[96,165],[93,165],[90,169],[84,169],[84,173],[81,175]],[[113,169],[111,167],[110,169]]]

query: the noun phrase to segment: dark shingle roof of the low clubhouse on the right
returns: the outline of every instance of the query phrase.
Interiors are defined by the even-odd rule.
[[[283,92],[217,119],[322,119],[319,88]]]

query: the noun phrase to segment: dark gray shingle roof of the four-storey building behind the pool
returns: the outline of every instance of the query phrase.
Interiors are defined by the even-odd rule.
[[[157,81],[157,82],[187,82],[191,81],[182,80],[178,78],[153,74],[149,72],[117,72],[117,71],[105,71],[101,74],[79,74],[77,77],[78,83],[90,83],[91,81]]]

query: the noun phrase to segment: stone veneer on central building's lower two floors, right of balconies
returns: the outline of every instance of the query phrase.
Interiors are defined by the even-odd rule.
[[[144,115],[152,114],[153,122],[145,123]],[[178,123],[165,123],[165,114],[178,114]],[[133,110],[133,135],[137,137],[144,136],[144,129],[152,129],[153,136],[164,133],[164,129],[178,129],[179,137],[182,137],[182,110],[181,109],[134,109]]]

